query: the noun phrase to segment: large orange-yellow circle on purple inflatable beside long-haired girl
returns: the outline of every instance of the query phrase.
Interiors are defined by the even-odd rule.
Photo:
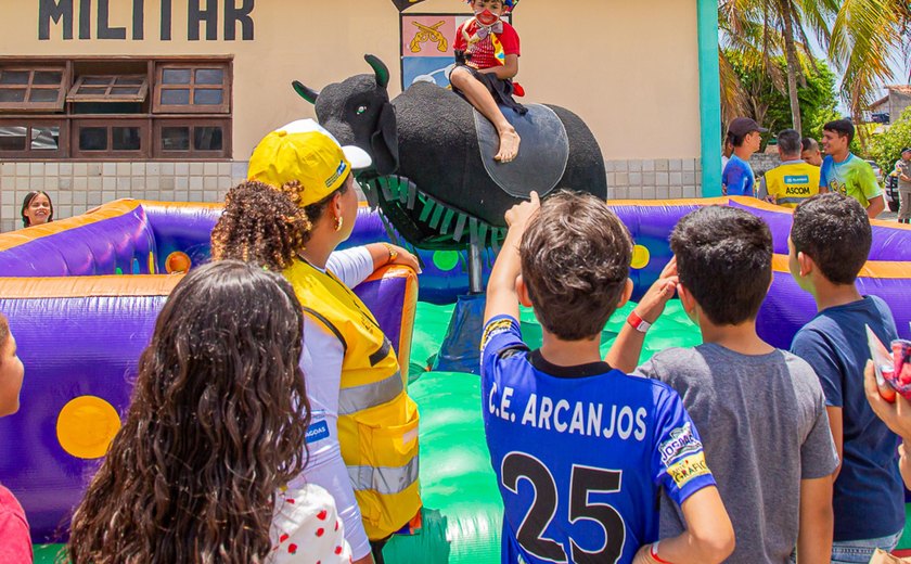
[[[120,416],[107,401],[79,396],[66,403],[57,415],[57,440],[63,450],[80,459],[97,459],[107,452],[120,430]]]

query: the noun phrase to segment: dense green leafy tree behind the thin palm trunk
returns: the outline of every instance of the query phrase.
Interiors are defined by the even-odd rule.
[[[761,65],[746,60],[739,53],[728,51],[726,56],[744,87],[749,117],[768,128],[769,137],[774,137],[782,129],[793,127],[786,87],[782,85],[781,89],[778,88]],[[778,67],[781,75],[786,73],[783,56],[773,59],[772,64]],[[799,82],[797,85],[801,130],[805,137],[820,139],[823,124],[842,117],[835,110],[837,103],[835,75],[824,62],[816,61],[816,72],[812,67],[808,67],[806,77],[806,87]]]

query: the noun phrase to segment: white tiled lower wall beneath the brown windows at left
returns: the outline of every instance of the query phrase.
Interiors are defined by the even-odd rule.
[[[25,195],[43,190],[64,219],[120,197],[219,202],[246,178],[246,162],[0,163],[0,232],[22,227]]]

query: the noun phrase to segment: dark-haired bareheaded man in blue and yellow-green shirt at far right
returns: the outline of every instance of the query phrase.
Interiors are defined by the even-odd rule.
[[[857,200],[867,209],[867,216],[873,219],[886,208],[886,200],[873,167],[850,152],[854,136],[850,119],[836,119],[822,126],[825,158],[822,159],[819,191],[822,194],[838,192]]]

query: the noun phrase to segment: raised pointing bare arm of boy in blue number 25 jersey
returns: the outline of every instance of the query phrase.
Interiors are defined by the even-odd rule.
[[[487,306],[484,309],[484,324],[496,316],[510,316],[518,319],[518,295],[515,291],[515,280],[522,271],[522,259],[518,245],[529,219],[540,209],[541,201],[537,192],[531,192],[531,200],[516,204],[506,211],[506,240],[487,282]]]

